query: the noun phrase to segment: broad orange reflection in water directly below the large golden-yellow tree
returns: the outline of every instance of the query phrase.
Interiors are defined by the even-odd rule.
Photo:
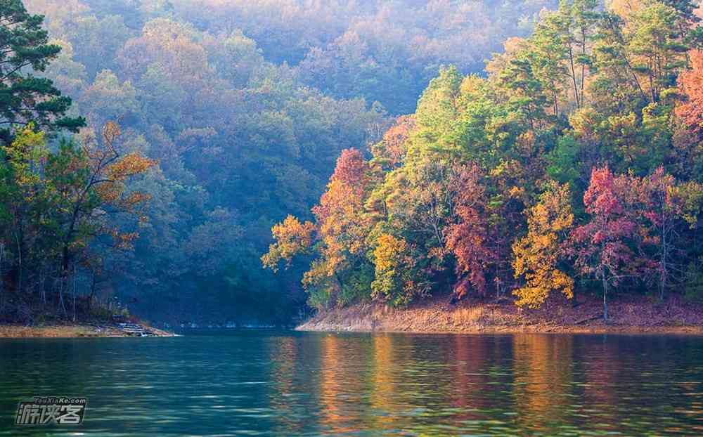
[[[571,402],[573,337],[516,334],[512,338],[517,420],[522,429],[554,429],[568,414]]]

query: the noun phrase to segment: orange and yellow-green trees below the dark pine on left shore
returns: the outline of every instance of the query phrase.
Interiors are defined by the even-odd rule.
[[[148,195],[129,190],[126,183],[155,162],[138,152],[120,152],[115,124],[105,126],[102,141],[63,139],[55,151],[45,134],[33,129],[27,126],[0,149],[0,199],[10,218],[0,223],[0,240],[14,243],[12,288],[19,299],[31,302],[25,292],[39,289],[46,302],[46,289],[53,289],[67,315],[69,278],[75,278],[78,264],[91,262],[91,244],[133,247]],[[110,219],[118,214],[130,216],[132,223],[122,226],[125,221]],[[27,273],[32,273],[31,283]],[[58,287],[47,285],[47,277]]]

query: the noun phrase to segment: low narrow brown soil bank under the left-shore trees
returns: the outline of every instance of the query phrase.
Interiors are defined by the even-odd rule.
[[[141,325],[149,337],[174,337],[171,332]],[[142,337],[117,325],[0,325],[0,338]]]

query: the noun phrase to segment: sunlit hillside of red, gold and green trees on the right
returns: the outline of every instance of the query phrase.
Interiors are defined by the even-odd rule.
[[[313,221],[265,266],[313,259],[318,308],[453,290],[703,299],[703,42],[688,0],[562,1],[487,76],[441,70],[368,157],[337,159]]]

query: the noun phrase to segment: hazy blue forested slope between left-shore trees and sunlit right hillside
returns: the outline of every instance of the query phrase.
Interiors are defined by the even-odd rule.
[[[335,159],[412,113],[441,65],[481,72],[556,0],[25,0],[63,46],[47,76],[159,168],[134,252],[98,288],[152,320],[285,322],[301,272],[259,256],[309,218]],[[117,218],[119,220],[119,218]]]

